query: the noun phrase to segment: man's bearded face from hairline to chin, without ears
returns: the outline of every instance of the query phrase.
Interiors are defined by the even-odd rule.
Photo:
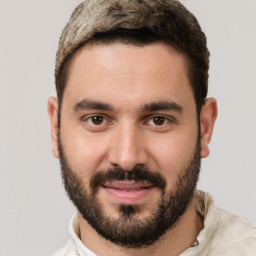
[[[187,74],[161,43],[87,45],[72,60],[55,155],[71,200],[112,242],[153,243],[191,201],[200,135]]]

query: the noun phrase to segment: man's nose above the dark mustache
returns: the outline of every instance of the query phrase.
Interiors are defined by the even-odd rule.
[[[130,124],[115,129],[109,149],[109,161],[112,166],[126,171],[147,164],[148,154],[143,132]]]

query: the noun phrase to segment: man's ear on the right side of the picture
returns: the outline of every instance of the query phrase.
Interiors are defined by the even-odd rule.
[[[201,157],[207,157],[210,154],[208,144],[211,141],[212,132],[217,118],[217,102],[214,98],[206,100],[200,113],[201,126]]]

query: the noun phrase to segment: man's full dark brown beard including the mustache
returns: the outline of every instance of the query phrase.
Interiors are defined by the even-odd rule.
[[[130,171],[122,168],[98,170],[85,186],[81,176],[71,165],[64,153],[59,136],[61,174],[65,190],[83,218],[103,238],[125,248],[141,248],[155,243],[167,230],[173,229],[185,214],[192,201],[200,172],[200,139],[195,150],[178,170],[176,184],[167,191],[166,178],[156,171],[136,166]],[[86,170],[84,171],[86,173]],[[98,190],[105,182],[147,181],[159,188],[161,197],[148,217],[139,218],[139,205],[120,204],[118,217],[104,213],[104,206],[98,197]],[[88,192],[88,190],[90,192]],[[137,214],[137,215],[136,215]]]

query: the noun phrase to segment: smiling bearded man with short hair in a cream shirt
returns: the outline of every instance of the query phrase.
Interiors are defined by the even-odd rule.
[[[87,0],[48,101],[53,154],[78,213],[54,255],[256,255],[256,227],[195,191],[217,117],[209,52],[176,0]]]

